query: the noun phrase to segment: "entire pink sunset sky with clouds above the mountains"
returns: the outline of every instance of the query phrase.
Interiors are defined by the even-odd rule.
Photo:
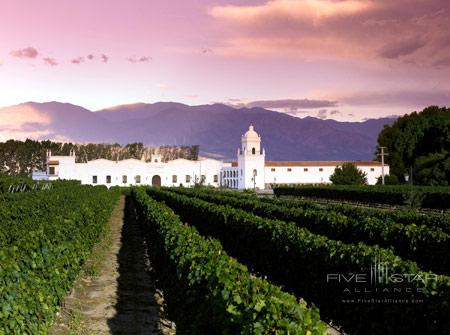
[[[449,31],[447,0],[0,0],[0,106],[403,114],[450,105]]]

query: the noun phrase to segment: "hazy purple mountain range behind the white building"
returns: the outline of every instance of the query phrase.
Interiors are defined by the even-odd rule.
[[[372,159],[377,136],[394,118],[338,122],[263,108],[174,102],[130,104],[96,112],[60,102],[0,108],[0,140],[14,137],[81,143],[200,145],[204,156],[233,159],[253,124],[268,160]]]

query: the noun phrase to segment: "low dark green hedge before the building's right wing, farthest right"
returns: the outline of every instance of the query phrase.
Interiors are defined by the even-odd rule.
[[[274,189],[276,196],[289,195],[335,200],[349,200],[386,205],[410,205],[415,207],[450,208],[449,187],[399,186],[280,186]],[[411,206],[409,206],[411,207]]]

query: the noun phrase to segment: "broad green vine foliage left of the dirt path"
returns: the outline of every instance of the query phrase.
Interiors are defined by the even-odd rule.
[[[75,185],[2,195],[0,334],[48,333],[118,196]]]

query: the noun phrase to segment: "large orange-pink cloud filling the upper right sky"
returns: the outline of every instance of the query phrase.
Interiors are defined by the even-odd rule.
[[[221,55],[370,59],[434,66],[450,54],[447,0],[271,0],[218,5]]]

